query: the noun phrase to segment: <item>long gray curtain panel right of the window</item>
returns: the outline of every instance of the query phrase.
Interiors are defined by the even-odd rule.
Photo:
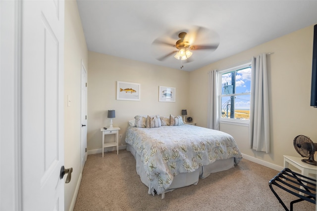
[[[269,111],[266,54],[252,58],[250,148],[269,153]]]

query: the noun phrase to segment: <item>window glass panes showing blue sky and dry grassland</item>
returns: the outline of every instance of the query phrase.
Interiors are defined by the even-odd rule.
[[[220,120],[250,120],[251,63],[219,71]]]

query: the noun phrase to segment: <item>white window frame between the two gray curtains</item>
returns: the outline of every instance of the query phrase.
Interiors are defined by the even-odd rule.
[[[218,98],[219,123],[249,127],[250,120],[222,118],[222,114],[221,114],[221,112],[222,112],[221,97],[224,96],[221,93],[222,92],[222,75],[226,74],[226,73],[233,72],[233,71],[241,70],[244,68],[248,68],[248,67],[251,68],[251,60],[236,64],[236,65],[232,65],[230,67],[223,68],[223,69],[217,71],[217,74],[218,74],[218,93],[217,93],[218,96],[217,96],[217,98]],[[252,86],[252,81],[251,81],[251,86]],[[238,93],[238,94],[235,94],[234,96],[238,96],[238,95],[246,95],[246,94]],[[250,99],[251,99],[251,87],[250,87]],[[250,113],[251,113],[251,108],[250,108]]]

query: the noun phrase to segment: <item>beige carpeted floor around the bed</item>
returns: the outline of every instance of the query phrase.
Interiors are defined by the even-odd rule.
[[[212,173],[197,185],[165,194],[149,195],[126,150],[89,155],[74,211],[283,211],[268,186],[278,171],[242,159],[233,169]],[[277,190],[289,208],[297,199]],[[294,204],[294,211],[315,211],[310,202]]]

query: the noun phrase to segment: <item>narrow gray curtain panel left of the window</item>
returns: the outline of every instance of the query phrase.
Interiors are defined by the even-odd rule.
[[[208,122],[207,127],[219,130],[218,114],[218,74],[216,70],[209,73]]]

